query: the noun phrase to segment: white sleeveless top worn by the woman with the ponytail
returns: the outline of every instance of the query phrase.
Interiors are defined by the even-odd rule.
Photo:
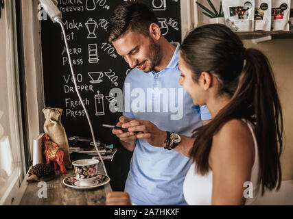
[[[250,205],[255,201],[257,197],[257,181],[259,179],[259,155],[257,149],[257,140],[255,138],[255,131],[253,129],[253,125],[250,122],[244,120],[248,125],[250,132],[253,136],[253,141],[255,143],[255,162],[253,164],[253,168],[251,169],[250,182],[244,185],[244,194],[249,194],[253,196],[252,198],[246,198],[245,205]],[[248,192],[248,188],[252,188],[253,186],[253,194]],[[207,175],[198,175],[195,172],[195,164],[192,164],[187,172],[185,177],[185,181],[183,183],[183,195],[185,197],[185,201],[188,205],[211,205],[211,193],[213,190],[213,171],[210,170]],[[246,195],[247,197],[248,195]],[[244,196],[245,197],[245,196]]]

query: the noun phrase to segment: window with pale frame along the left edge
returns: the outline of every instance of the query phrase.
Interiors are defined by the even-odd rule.
[[[0,205],[11,205],[25,173],[15,14],[15,1],[4,1],[0,18]]]

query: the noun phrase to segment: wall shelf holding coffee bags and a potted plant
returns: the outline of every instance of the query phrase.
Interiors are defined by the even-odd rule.
[[[222,0],[212,3],[209,0],[198,1],[203,6],[194,5],[195,11],[198,11],[198,22],[195,22],[197,26],[205,23],[223,24],[230,27],[242,40],[253,40],[255,43],[293,38],[293,0]],[[198,1],[196,3],[200,5]],[[217,8],[220,10],[217,11]]]

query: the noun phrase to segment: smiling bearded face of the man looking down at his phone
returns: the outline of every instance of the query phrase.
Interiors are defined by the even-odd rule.
[[[161,62],[159,44],[156,44],[151,37],[145,37],[136,31],[126,31],[121,38],[112,43],[130,68],[137,67],[139,70],[149,73]]]

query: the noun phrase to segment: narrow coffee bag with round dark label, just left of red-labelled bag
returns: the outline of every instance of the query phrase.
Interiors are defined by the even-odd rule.
[[[255,30],[270,31],[272,0],[255,0]]]

